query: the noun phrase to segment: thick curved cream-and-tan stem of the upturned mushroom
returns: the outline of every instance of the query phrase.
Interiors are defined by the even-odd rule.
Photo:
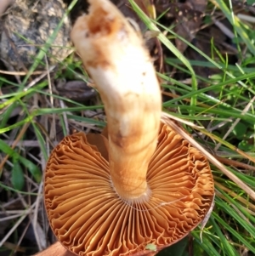
[[[156,150],[161,92],[138,31],[108,0],[89,0],[71,39],[105,104],[112,184],[125,201],[150,197],[146,174]]]

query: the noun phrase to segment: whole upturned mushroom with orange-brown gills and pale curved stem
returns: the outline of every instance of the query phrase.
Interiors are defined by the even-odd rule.
[[[207,158],[161,122],[161,91],[139,32],[110,1],[89,3],[71,38],[104,101],[107,132],[71,134],[52,151],[49,224],[77,255],[153,255],[146,246],[178,242],[205,218],[212,173]]]

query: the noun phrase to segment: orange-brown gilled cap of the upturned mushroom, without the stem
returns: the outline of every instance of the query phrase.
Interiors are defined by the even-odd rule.
[[[45,172],[45,207],[54,234],[77,255],[145,255],[150,243],[159,250],[186,236],[212,204],[207,158],[163,123],[147,182],[148,202],[125,202],[113,188],[108,161],[86,134],[65,137]]]

